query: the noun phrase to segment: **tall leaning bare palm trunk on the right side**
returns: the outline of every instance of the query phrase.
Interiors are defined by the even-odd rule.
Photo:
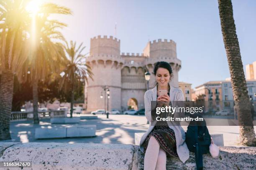
[[[235,109],[238,114],[238,122],[240,125],[240,143],[242,145],[253,146],[256,145],[256,138],[250,112],[250,102],[243,72],[240,47],[236,35],[232,2],[231,0],[218,0],[218,3],[223,41],[228,57]]]

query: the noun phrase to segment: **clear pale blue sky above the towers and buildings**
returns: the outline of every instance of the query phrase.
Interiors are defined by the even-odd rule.
[[[223,43],[218,0],[48,0],[69,7],[73,15],[54,18],[66,23],[66,39],[116,36],[120,52],[142,53],[148,40],[172,39],[182,61],[179,81],[197,87],[230,77]],[[256,61],[256,1],[232,0],[233,15],[244,66]]]

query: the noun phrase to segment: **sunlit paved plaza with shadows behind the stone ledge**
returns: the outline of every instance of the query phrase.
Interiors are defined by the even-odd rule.
[[[122,143],[134,144],[134,133],[146,132],[145,115],[97,115],[98,119],[80,120],[79,125],[97,125],[96,137],[90,138],[57,138],[35,139],[35,129],[39,127],[67,126],[70,124],[51,124],[49,119],[40,120],[39,125],[34,125],[32,120],[15,121],[10,123],[12,140],[4,142],[58,142],[58,143]],[[74,125],[74,124],[73,124]],[[223,134],[225,146],[238,146],[238,126],[207,126],[210,134]],[[183,126],[187,130],[186,126]],[[256,126],[254,126],[254,130]],[[256,130],[255,130],[256,131]]]

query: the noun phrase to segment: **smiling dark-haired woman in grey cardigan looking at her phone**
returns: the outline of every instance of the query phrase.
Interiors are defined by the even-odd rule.
[[[145,115],[151,122],[151,101],[171,103],[184,101],[182,90],[169,85],[172,67],[168,62],[157,62],[154,67],[156,87],[145,92]],[[159,90],[167,90],[167,95],[159,95]],[[141,138],[140,150],[145,153],[144,170],[166,170],[166,155],[179,158],[183,163],[189,158],[189,150],[185,143],[185,132],[180,125],[165,122],[160,125],[156,120],[151,122]]]

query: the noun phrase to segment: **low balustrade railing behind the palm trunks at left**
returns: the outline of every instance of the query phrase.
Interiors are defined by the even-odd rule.
[[[39,119],[48,119],[52,117],[67,117],[65,110],[38,111]],[[32,120],[33,112],[11,112],[10,120]]]

